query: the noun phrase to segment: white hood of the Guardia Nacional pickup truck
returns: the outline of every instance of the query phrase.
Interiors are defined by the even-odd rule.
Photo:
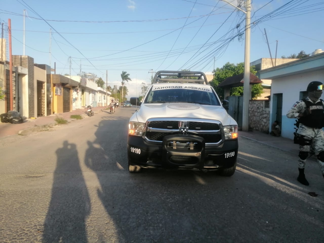
[[[146,122],[149,118],[197,118],[218,120],[224,126],[237,125],[222,106],[196,103],[142,104],[130,121]]]

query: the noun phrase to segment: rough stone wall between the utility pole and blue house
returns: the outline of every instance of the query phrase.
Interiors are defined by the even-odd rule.
[[[249,127],[255,131],[269,133],[270,108],[269,100],[250,100]]]

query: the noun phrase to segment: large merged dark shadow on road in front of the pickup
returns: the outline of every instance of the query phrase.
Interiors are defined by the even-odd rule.
[[[322,213],[317,212],[323,206],[305,211],[311,201],[242,169],[230,178],[154,169],[130,174],[127,124],[103,118],[85,160],[97,174],[98,198],[112,221],[106,223],[110,234],[103,234],[102,242],[108,242],[111,232],[118,242],[299,242],[311,236],[315,242],[320,237]],[[258,163],[269,161],[254,156],[253,167]]]

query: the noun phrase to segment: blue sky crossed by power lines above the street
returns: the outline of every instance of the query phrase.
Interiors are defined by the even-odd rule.
[[[242,10],[244,1],[228,0]],[[48,5],[46,5],[48,2]],[[252,0],[250,61],[324,50],[322,0]],[[24,11],[24,9],[26,11]],[[221,0],[7,0],[0,6],[4,37],[11,19],[12,54],[24,53],[56,74],[94,73],[141,95],[160,70],[212,72],[244,62],[246,14]],[[278,45],[277,45],[278,44]],[[276,48],[277,45],[277,48]],[[277,51],[277,55],[276,55]]]

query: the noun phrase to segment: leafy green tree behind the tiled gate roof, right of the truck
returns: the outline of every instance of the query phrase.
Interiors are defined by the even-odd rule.
[[[255,70],[254,66],[250,67],[250,72],[252,74],[256,74],[257,71]],[[244,63],[226,63],[222,68],[216,68],[214,70],[214,78],[212,81],[209,82],[211,86],[215,89],[218,97],[220,99],[224,99],[224,88],[217,87],[221,82],[223,82],[226,78],[239,75],[244,73]],[[231,88],[230,95],[232,96],[241,96],[243,95],[243,87],[234,87]],[[252,99],[260,97],[263,92],[263,88],[261,84],[254,84],[252,85]]]

